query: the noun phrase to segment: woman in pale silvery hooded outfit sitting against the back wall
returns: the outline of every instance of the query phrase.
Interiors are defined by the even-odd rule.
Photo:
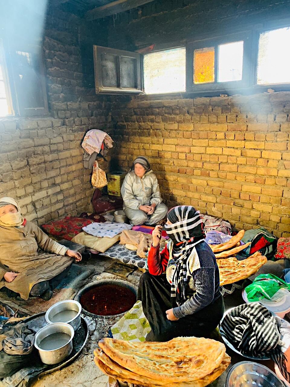
[[[166,216],[168,208],[160,196],[157,178],[144,156],[133,161],[121,187],[123,210],[131,224],[156,224]]]

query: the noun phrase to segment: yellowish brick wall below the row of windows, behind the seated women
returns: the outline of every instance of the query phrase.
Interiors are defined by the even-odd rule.
[[[290,92],[113,106],[114,162],[148,156],[167,204],[290,236]]]

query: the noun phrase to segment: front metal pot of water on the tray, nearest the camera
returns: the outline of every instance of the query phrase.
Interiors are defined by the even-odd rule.
[[[43,339],[55,333],[65,333],[70,337],[70,339],[66,344],[61,345],[59,348],[57,348],[57,346],[56,348],[50,350],[41,348],[41,342]],[[74,334],[75,331],[73,330],[73,327],[64,322],[55,322],[39,329],[35,335],[34,346],[38,349],[41,361],[44,364],[57,364],[65,360],[65,358],[72,353],[72,339]]]

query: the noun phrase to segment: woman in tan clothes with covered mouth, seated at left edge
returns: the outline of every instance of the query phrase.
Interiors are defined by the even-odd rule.
[[[78,262],[82,256],[26,221],[16,200],[0,198],[0,289],[8,288],[24,300],[29,295],[49,300],[73,258]]]

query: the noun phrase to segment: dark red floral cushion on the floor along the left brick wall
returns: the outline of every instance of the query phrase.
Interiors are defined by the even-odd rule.
[[[57,239],[70,241],[75,235],[82,232],[84,226],[93,222],[91,219],[66,216],[64,219],[43,224],[41,227],[46,233],[55,236]]]

